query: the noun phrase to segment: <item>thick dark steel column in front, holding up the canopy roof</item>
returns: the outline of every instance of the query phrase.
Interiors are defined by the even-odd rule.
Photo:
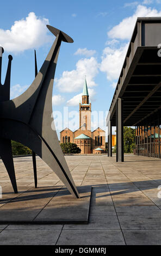
[[[122,99],[116,101],[116,162],[123,162],[123,104]]]

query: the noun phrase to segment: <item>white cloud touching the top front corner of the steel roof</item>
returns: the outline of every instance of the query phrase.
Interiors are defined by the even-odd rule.
[[[155,8],[147,8],[144,5],[139,4],[135,13],[123,19],[118,25],[114,26],[109,32],[109,38],[113,39],[131,39],[132,32],[135,26],[137,17],[157,17],[161,16],[161,11],[158,11]]]

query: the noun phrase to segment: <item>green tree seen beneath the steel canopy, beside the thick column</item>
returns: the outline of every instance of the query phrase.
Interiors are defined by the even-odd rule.
[[[123,151],[124,153],[133,153],[135,148],[135,129],[131,127],[123,127]],[[113,153],[116,153],[116,145],[113,149]]]

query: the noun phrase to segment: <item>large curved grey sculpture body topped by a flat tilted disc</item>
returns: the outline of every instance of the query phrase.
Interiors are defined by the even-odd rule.
[[[0,135],[32,149],[58,175],[71,194],[79,198],[51,117],[53,81],[61,41],[73,40],[58,29],[47,27],[56,38],[35,80],[20,96],[0,102]]]

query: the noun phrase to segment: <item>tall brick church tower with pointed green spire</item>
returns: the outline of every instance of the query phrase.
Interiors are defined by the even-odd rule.
[[[89,103],[86,78],[83,87],[82,103],[79,103],[79,129],[91,130],[91,103]]]

